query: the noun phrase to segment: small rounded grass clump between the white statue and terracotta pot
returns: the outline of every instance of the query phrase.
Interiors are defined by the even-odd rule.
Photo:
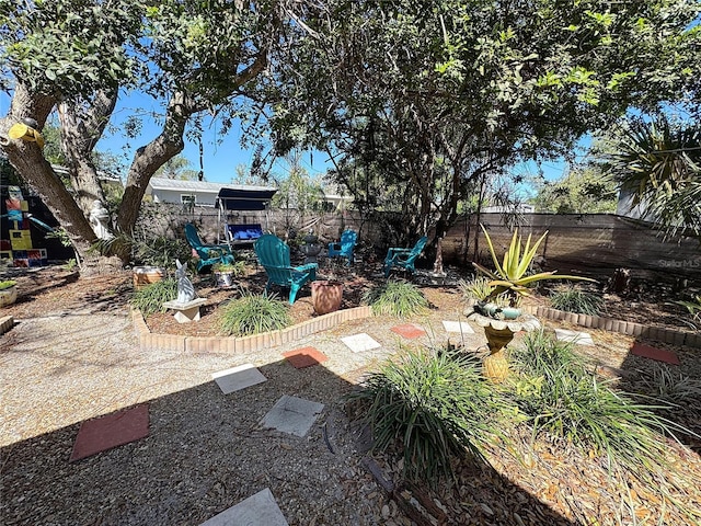
[[[219,317],[220,334],[245,336],[285,329],[291,323],[287,304],[267,295],[244,294],[223,307]]]

